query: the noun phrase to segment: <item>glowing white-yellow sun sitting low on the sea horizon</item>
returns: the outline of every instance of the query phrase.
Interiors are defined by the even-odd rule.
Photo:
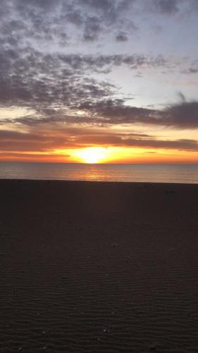
[[[80,150],[78,152],[78,156],[81,160],[85,163],[100,163],[101,160],[104,160],[106,157],[107,152],[106,148],[102,147],[91,147],[85,148],[85,150]]]

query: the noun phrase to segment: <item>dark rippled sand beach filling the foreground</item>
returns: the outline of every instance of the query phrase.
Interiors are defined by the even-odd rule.
[[[0,192],[0,352],[198,352],[198,185]]]

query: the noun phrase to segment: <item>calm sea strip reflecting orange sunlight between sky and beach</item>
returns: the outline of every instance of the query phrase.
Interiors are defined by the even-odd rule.
[[[52,164],[0,162],[0,179],[198,184],[198,164]]]

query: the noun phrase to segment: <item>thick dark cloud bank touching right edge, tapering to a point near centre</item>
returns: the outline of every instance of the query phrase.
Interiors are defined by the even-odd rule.
[[[198,102],[171,105],[166,109],[130,107],[123,100],[106,100],[92,104],[85,102],[82,109],[94,112],[106,124],[152,124],[172,128],[198,128]]]

